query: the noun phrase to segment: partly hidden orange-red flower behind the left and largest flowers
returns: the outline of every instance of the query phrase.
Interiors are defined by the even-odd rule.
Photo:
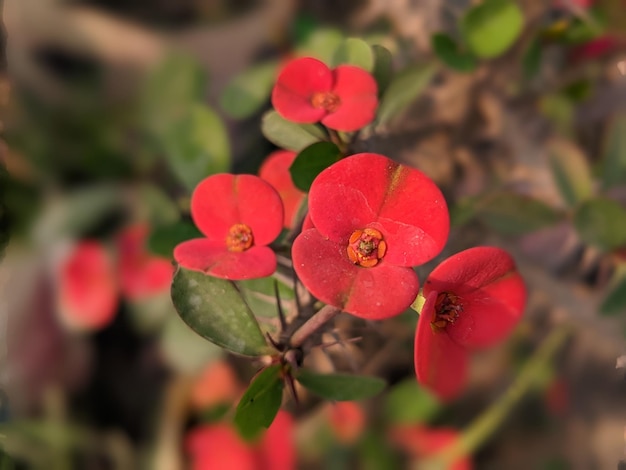
[[[289,167],[296,158],[296,152],[278,150],[271,153],[261,165],[259,176],[271,184],[283,201],[285,207],[286,228],[293,227],[298,209],[304,200],[305,193],[293,184]]]

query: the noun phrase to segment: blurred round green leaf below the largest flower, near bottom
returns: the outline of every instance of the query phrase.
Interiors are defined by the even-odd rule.
[[[395,385],[385,400],[385,416],[395,424],[428,423],[440,409],[437,397],[414,379]]]

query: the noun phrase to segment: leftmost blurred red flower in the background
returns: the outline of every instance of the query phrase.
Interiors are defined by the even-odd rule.
[[[63,321],[80,330],[108,325],[117,311],[118,290],[113,259],[104,245],[78,243],[59,272],[58,307]]]

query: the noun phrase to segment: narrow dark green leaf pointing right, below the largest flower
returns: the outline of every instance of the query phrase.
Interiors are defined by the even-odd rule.
[[[387,383],[378,377],[350,374],[316,374],[300,369],[296,380],[303,387],[327,400],[351,401],[373,397]]]

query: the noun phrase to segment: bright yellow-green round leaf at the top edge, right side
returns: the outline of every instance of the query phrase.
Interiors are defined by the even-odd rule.
[[[461,20],[461,33],[478,57],[491,59],[506,52],[524,26],[522,10],[513,0],[484,0]]]

